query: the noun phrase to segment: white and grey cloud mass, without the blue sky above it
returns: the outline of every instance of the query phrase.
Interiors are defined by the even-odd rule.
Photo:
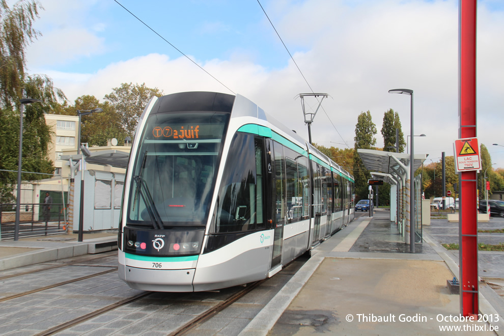
[[[292,5],[283,1],[265,8],[284,42],[292,50],[295,46],[306,50],[293,56],[312,89],[332,97],[325,99],[323,106],[341,137],[321,109],[312,125],[314,142],[330,146],[330,142],[345,141],[353,147],[357,116],[370,110],[378,129],[377,146],[381,146],[379,130],[383,113],[389,108],[400,113],[404,134],[409,134],[409,97],[388,94],[390,89],[408,88],[414,90],[414,133],[427,135],[415,138],[415,151],[429,153],[435,161],[443,151],[453,155],[459,127],[458,2],[348,3],[307,0]],[[502,12],[487,10],[484,4],[479,6],[478,15],[478,135],[497,166],[504,167],[504,153],[491,146],[499,142],[504,145],[500,136],[504,119],[504,17]],[[75,55],[62,51],[67,58],[103,48],[104,42],[89,34],[87,48]],[[285,58],[289,59],[287,52]],[[236,51],[229,60],[198,63],[235,93],[256,102],[307,138],[301,104],[294,97],[310,89],[292,60],[283,69],[269,71]],[[158,53],[109,64],[95,73],[75,76],[73,82],[61,76],[53,79],[72,100],[83,94],[102,99],[122,82],[145,82],[165,94],[199,90],[230,93],[184,57],[169,59]],[[306,103],[316,108],[315,101],[307,99]]]

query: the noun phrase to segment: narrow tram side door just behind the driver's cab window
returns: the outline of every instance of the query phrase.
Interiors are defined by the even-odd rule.
[[[273,214],[273,254],[271,256],[271,268],[282,262],[282,243],[284,237],[284,225],[286,220],[286,179],[285,179],[285,157],[281,144],[271,142],[273,144],[274,158],[274,177],[273,190],[274,197],[274,214]]]

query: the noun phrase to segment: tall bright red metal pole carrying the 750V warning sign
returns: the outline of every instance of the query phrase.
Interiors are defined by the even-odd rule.
[[[476,137],[476,2],[459,0],[459,138]],[[461,172],[460,312],[478,314],[477,172]]]

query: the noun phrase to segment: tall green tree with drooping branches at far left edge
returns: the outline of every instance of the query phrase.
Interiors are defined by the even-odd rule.
[[[47,158],[50,131],[44,113],[59,108],[65,101],[61,90],[55,89],[45,75],[25,73],[24,51],[40,33],[33,22],[43,9],[37,1],[21,0],[9,7],[0,0],[0,170],[17,170],[19,151],[20,102],[23,97],[40,99],[41,103],[25,106],[23,119],[23,171],[52,173],[54,167]],[[25,180],[41,175],[23,175]],[[0,171],[0,202],[12,201],[10,196],[16,175]]]

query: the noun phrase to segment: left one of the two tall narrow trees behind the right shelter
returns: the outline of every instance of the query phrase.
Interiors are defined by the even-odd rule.
[[[372,149],[376,144],[376,125],[373,123],[370,111],[362,112],[357,117],[355,125],[355,152],[353,160],[353,176],[355,179],[355,194],[359,199],[368,198],[368,180],[371,174],[364,166],[357,149]]]

